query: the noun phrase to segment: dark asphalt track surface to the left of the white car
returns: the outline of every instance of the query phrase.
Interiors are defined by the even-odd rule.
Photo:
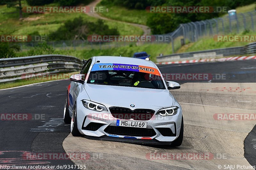
[[[67,85],[68,80],[64,80],[0,91],[1,114],[39,114],[40,118],[43,114],[43,119],[45,115],[45,120],[3,120],[1,117],[0,164],[73,165],[67,159],[33,160],[22,157],[26,152],[65,152],[62,141],[69,134],[70,125],[63,123],[61,113]],[[54,122],[46,124],[51,120]]]

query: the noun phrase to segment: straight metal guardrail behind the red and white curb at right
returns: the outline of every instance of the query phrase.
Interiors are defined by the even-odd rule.
[[[187,53],[175,53],[170,55],[158,56],[157,62],[168,62],[168,61],[177,61],[179,59],[205,59],[205,58],[216,58],[223,56],[232,56],[232,55],[245,55],[245,54],[254,54],[256,53],[256,42],[250,43],[245,46],[238,47],[228,47],[228,48],[219,48],[212,50],[203,50],[203,51],[193,51]]]

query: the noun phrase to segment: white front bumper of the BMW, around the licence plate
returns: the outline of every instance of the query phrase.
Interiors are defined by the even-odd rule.
[[[156,108],[155,113],[159,109],[161,108]],[[92,112],[92,110],[86,109],[82,102],[77,102],[77,127],[80,133],[85,135],[86,138],[128,143],[155,143],[163,145],[171,144],[171,142],[178,138],[180,134],[182,119],[181,107],[176,115],[167,117],[154,115],[150,120],[143,121],[147,122],[147,128],[135,128],[137,135],[133,135],[132,132],[130,132],[131,127],[116,126],[117,119],[114,118],[109,111]],[[90,123],[93,123],[93,125],[96,126],[90,127],[88,130],[88,127],[92,125]],[[110,126],[110,129],[112,130],[109,130]],[[116,131],[119,127],[122,128],[123,131]],[[145,129],[152,131],[152,133],[147,131],[144,132]],[[128,130],[128,132],[126,130]],[[166,134],[165,130],[170,131],[170,133]]]

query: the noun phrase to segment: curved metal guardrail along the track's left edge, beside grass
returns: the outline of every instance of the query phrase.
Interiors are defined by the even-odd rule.
[[[66,55],[4,58],[0,59],[0,82],[19,80],[26,74],[79,71],[82,67],[82,60]]]

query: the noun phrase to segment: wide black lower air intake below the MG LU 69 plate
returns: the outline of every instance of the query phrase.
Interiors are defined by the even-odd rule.
[[[104,131],[107,132],[108,134],[123,136],[152,137],[156,135],[154,129],[148,128],[108,126],[104,129]]]

